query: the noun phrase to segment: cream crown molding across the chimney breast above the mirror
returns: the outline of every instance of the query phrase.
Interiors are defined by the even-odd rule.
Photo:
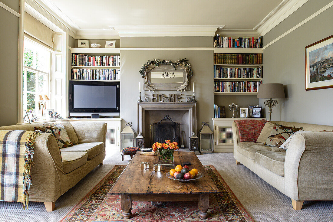
[[[120,37],[214,36],[224,25],[123,25],[113,26]]]

